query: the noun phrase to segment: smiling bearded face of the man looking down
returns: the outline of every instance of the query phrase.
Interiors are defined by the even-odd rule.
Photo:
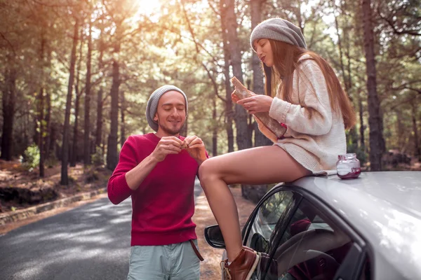
[[[158,102],[154,120],[158,122],[158,134],[173,136],[180,133],[186,120],[186,106],[183,95],[175,90],[164,93]]]

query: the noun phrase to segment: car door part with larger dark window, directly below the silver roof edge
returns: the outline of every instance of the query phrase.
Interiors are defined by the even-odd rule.
[[[256,279],[352,280],[361,276],[367,255],[364,241],[316,197],[300,188],[291,191],[300,200],[272,232],[269,261]]]

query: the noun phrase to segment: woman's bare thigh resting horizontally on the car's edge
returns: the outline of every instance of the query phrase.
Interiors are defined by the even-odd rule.
[[[222,179],[227,184],[262,184],[295,181],[311,172],[279,146],[262,146],[218,155],[203,162],[199,177]]]

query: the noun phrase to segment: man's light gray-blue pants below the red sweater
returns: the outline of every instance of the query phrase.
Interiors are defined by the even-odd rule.
[[[197,247],[197,240],[194,240]],[[200,261],[185,241],[163,246],[132,246],[127,280],[199,280]]]

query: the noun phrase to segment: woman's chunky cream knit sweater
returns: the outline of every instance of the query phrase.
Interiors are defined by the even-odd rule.
[[[276,139],[256,119],[259,129],[313,174],[336,174],[338,155],[347,152],[342,114],[330,108],[326,80],[314,60],[301,62],[293,75],[292,103],[283,101],[278,89],[269,111],[271,118],[288,126],[284,138]]]

